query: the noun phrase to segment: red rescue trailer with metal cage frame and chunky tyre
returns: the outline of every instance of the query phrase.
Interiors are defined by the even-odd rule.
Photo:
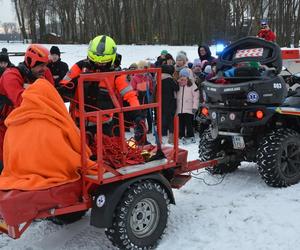
[[[156,102],[122,107],[108,79],[136,73],[155,74]],[[85,86],[99,81],[106,82],[115,108],[99,110],[86,105]],[[79,110],[75,120],[81,133],[81,180],[41,191],[0,191],[0,231],[17,239],[35,219],[54,217],[71,222],[91,209],[91,225],[107,228],[106,234],[115,246],[121,249],[155,246],[166,227],[168,205],[175,204],[172,188],[182,187],[191,178],[189,172],[214,166],[222,159],[188,162],[188,152],[178,147],[178,117],[174,119],[174,146],[160,145],[160,69],[82,74],[78,80],[78,101],[71,103]],[[124,115],[138,109],[156,110],[158,145],[137,146],[132,139],[126,138]],[[102,120],[111,113],[118,117],[119,136],[108,138],[102,133]],[[90,120],[96,127],[93,145],[86,136]],[[87,168],[87,142],[93,147],[96,162],[92,174]],[[113,152],[114,156],[109,157],[107,152]],[[147,157],[141,160],[145,153]],[[160,157],[151,157],[153,155]],[[137,159],[141,162],[136,163]]]

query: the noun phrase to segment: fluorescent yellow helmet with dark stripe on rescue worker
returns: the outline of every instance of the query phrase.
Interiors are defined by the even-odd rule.
[[[105,35],[96,36],[90,41],[88,58],[95,63],[114,63],[116,59],[117,45],[115,41]]]

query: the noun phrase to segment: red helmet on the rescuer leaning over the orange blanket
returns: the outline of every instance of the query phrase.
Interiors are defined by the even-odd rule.
[[[32,68],[37,62],[47,63],[49,61],[49,50],[40,44],[31,44],[25,53],[25,64]]]

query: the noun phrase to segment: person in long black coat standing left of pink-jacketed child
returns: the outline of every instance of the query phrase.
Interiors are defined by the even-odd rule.
[[[179,90],[177,81],[174,80],[174,66],[164,64],[162,69],[162,135],[169,132],[169,143],[173,143],[174,115],[176,113],[176,92]]]

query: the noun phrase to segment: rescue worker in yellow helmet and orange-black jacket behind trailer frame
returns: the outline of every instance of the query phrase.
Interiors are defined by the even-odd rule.
[[[76,86],[76,81],[81,73],[115,71],[114,65],[117,57],[116,51],[117,45],[111,37],[106,35],[96,36],[90,41],[87,58],[74,64],[60,84],[67,86],[71,82],[74,82]],[[140,105],[136,92],[126,80],[126,75],[120,75],[117,77],[107,76],[106,79],[108,79],[108,82],[112,84],[113,90],[116,90],[116,92],[121,96],[120,103],[122,103],[123,100],[132,107]],[[90,84],[85,84],[84,87],[85,94],[87,95],[86,104],[96,106],[100,109],[114,108],[104,81],[91,82]],[[75,93],[75,99],[76,98],[77,93]],[[78,111],[76,108],[70,107],[70,112],[73,118],[74,114],[75,117],[78,117]],[[136,124],[135,139],[140,141],[143,134],[142,122],[144,119],[141,115],[141,112],[131,112],[130,116],[130,120],[134,121]],[[112,121],[113,114],[103,117],[103,133],[110,136],[114,134],[112,132]]]

